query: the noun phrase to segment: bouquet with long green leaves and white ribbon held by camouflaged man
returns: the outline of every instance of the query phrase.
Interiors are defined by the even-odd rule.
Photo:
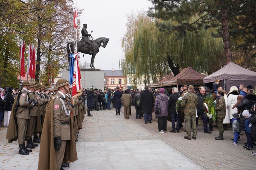
[[[215,122],[217,118],[217,114],[215,111],[216,100],[213,100],[212,94],[208,95],[204,100],[205,114],[207,117],[212,118]]]

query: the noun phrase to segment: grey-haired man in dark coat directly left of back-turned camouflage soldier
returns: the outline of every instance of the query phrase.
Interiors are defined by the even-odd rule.
[[[169,107],[170,107],[171,116],[172,116],[172,130],[169,132],[172,132],[172,133],[176,133],[176,130],[177,130],[177,133],[180,132],[179,114],[176,111],[176,102],[179,97],[180,97],[180,94],[179,94],[178,88],[176,87],[172,88],[172,95],[169,100]],[[177,122],[176,128],[175,128],[175,120]]]

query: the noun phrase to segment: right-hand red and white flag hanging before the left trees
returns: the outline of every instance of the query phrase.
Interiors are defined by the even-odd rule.
[[[31,78],[35,78],[35,46],[34,44],[29,45],[27,74],[30,75]]]

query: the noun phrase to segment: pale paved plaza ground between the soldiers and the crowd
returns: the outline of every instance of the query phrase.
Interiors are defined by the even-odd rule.
[[[121,110],[123,111],[123,110]],[[245,135],[239,146],[232,145],[232,129],[225,131],[224,141],[216,141],[218,135],[203,133],[199,126],[197,140],[185,140],[184,129],[180,133],[158,133],[157,119],[145,124],[135,119],[135,109],[129,120],[115,110],[91,112],[85,117],[77,142],[78,160],[66,170],[104,169],[255,169],[256,157],[243,149]],[[154,114],[153,114],[154,117]],[[39,147],[29,155],[19,155],[17,141],[8,144],[7,128],[0,128],[0,170],[37,169]]]

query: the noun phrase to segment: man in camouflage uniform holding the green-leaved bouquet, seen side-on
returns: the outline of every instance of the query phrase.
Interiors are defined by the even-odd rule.
[[[226,116],[226,103],[224,99],[224,91],[223,90],[218,90],[217,92],[217,102],[216,102],[216,107],[215,110],[217,112],[217,127],[219,128],[219,136],[215,137],[215,140],[224,140],[223,138],[223,133],[224,133],[224,128],[223,128],[223,119]]]

